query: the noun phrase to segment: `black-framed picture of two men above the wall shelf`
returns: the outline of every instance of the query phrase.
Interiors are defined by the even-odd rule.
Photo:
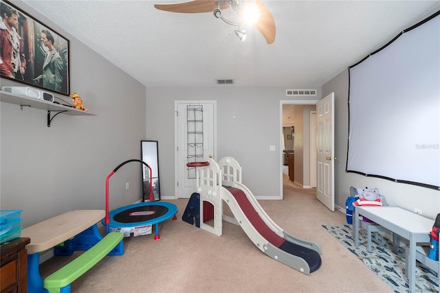
[[[69,40],[0,0],[1,78],[69,95]]]

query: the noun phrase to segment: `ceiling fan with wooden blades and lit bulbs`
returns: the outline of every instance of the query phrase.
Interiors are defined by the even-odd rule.
[[[179,12],[179,13],[204,13],[212,12],[217,19],[221,19],[229,25],[236,25],[239,30],[235,30],[236,35],[244,40],[246,37],[246,31],[242,26],[244,26],[249,21],[245,19],[245,8],[252,5],[253,10],[257,12],[258,19],[254,19],[252,25],[256,27],[257,30],[263,34],[266,39],[267,44],[274,43],[276,28],[274,18],[272,14],[267,9],[266,5],[261,2],[261,0],[252,1],[241,1],[241,0],[192,0],[183,3],[175,4],[155,4],[154,7],[159,10],[164,10],[168,12]],[[221,10],[232,8],[235,10],[239,16],[243,19],[240,22],[230,21],[225,19],[221,14]]]

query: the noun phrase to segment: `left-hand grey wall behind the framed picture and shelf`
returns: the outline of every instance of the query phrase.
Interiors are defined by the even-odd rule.
[[[46,111],[1,102],[0,207],[22,209],[23,227],[73,209],[104,209],[107,175],[140,159],[145,87],[25,3],[14,4],[70,40],[71,90],[96,116],[61,114],[48,128]],[[109,190],[111,209],[142,198],[140,164],[122,167]]]

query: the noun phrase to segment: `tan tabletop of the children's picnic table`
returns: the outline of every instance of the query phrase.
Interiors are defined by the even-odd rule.
[[[30,238],[28,254],[41,253],[83,232],[104,216],[104,210],[68,211],[23,229],[21,237]]]

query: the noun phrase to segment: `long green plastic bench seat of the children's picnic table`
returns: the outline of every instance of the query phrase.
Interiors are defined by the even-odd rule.
[[[70,284],[103,259],[124,238],[123,233],[111,232],[97,244],[76,257],[43,281],[43,287],[50,293],[70,292]]]

